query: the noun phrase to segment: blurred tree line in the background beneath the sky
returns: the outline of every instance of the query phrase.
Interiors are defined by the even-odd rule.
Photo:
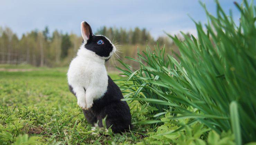
[[[156,40],[145,28],[136,27],[126,30],[102,27],[95,34],[107,36],[117,45],[156,44]],[[158,37],[157,40],[160,45],[172,45],[167,37]],[[10,28],[0,27],[0,63],[64,66],[76,55],[81,42],[82,37],[74,33],[62,33],[55,30],[50,34],[48,27],[45,27],[43,31],[31,30],[24,33],[21,38],[18,38]],[[128,54],[122,55],[128,56]]]

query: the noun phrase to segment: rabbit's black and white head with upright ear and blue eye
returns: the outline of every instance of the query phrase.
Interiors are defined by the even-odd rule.
[[[93,51],[104,60],[110,59],[110,57],[115,53],[115,45],[113,45],[105,36],[93,35],[91,26],[85,21],[81,22],[81,33],[85,49]]]

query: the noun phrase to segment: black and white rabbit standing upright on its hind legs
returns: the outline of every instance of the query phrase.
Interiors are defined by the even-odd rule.
[[[121,90],[107,75],[105,62],[115,53],[116,47],[101,35],[93,35],[90,25],[81,23],[82,46],[71,61],[67,72],[70,91],[76,96],[77,104],[83,109],[89,123],[102,127],[112,125],[112,131],[119,133],[131,128],[131,114],[128,104],[121,101]]]

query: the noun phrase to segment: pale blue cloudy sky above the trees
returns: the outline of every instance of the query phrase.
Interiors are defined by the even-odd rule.
[[[201,0],[209,12],[216,14],[214,0]],[[234,1],[219,0],[222,8],[238,21],[239,11]],[[9,27],[19,37],[31,30],[81,35],[81,21],[88,22],[92,31],[107,27],[146,28],[154,38],[180,31],[196,34],[191,18],[207,22],[198,0],[0,0],[0,27]]]

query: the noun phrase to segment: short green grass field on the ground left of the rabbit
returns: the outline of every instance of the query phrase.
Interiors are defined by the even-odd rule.
[[[136,126],[132,134],[99,134],[97,128],[92,131],[68,90],[67,68],[0,68],[0,144],[136,143],[143,138],[135,132]],[[109,75],[112,79],[120,78],[114,73]],[[133,118],[141,116],[132,114]]]

